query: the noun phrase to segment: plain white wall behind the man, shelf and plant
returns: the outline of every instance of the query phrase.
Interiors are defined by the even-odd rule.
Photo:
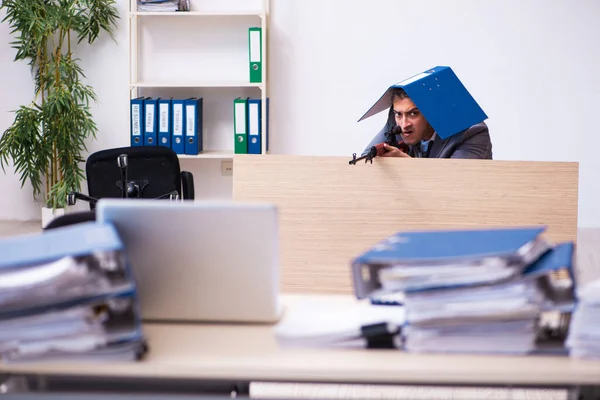
[[[94,109],[100,133],[90,144],[91,151],[129,141],[127,4],[118,3],[122,16],[118,44],[106,39],[80,53],[89,83],[100,98]],[[600,137],[594,134],[600,104],[598,15],[600,2],[595,0],[271,0],[270,149],[348,157],[360,152],[383,125],[385,113],[356,121],[390,84],[432,66],[448,65],[489,116],[494,158],[578,161],[579,224],[600,226],[596,207],[600,184],[594,173],[600,166],[594,157],[600,148]],[[142,70],[146,77],[164,72],[169,59],[170,67],[187,77],[201,72],[236,75],[246,67],[245,48],[234,44],[234,33],[228,32],[243,32],[252,20],[177,21],[172,26],[162,20],[151,22],[155,25],[144,44],[158,58],[143,55],[155,62]],[[210,46],[204,35],[208,32],[216,32],[214,39],[220,45]],[[177,37],[189,38],[186,46],[191,48],[181,46]],[[12,121],[8,111],[31,95],[27,66],[12,62],[9,40],[7,25],[0,24],[2,131]],[[233,61],[227,61],[228,51],[233,52]],[[186,54],[193,63],[177,61]],[[218,54],[221,58],[216,58]],[[214,99],[213,109],[222,105],[227,110],[221,116],[207,116],[213,118],[208,146],[231,148],[230,98],[248,92],[198,93],[205,101]],[[220,176],[219,161],[184,160],[183,168],[195,174],[198,197],[231,195],[231,178]],[[10,170],[0,173],[0,218],[38,215],[29,188],[20,191]]]

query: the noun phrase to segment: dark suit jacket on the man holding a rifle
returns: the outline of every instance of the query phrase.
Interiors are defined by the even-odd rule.
[[[385,126],[369,143],[363,155],[366,154],[371,146],[385,141],[385,133],[390,131],[396,125],[396,120],[391,112],[388,114],[388,120]],[[398,141],[402,141],[402,137],[397,135]],[[462,132],[452,135],[446,139],[436,137],[431,144],[429,158],[477,158],[477,159],[492,159],[492,141],[490,133],[485,122],[475,124]],[[411,146],[409,155],[418,157],[418,152]]]

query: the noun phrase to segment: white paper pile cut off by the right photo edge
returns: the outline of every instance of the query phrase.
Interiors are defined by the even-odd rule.
[[[576,358],[600,358],[600,279],[577,293],[567,346]]]

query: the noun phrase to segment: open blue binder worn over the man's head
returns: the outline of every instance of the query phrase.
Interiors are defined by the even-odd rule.
[[[442,139],[487,119],[454,71],[437,66],[390,86],[358,121],[389,110],[394,88],[404,89]]]

